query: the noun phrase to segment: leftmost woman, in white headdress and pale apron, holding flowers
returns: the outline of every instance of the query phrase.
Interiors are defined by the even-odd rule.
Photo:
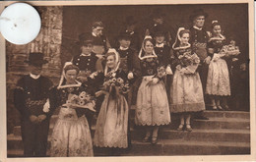
[[[94,156],[85,107],[93,108],[95,101],[89,87],[76,80],[78,73],[78,67],[66,63],[61,81],[52,91],[50,106],[60,107],[60,111],[51,135],[50,156]]]

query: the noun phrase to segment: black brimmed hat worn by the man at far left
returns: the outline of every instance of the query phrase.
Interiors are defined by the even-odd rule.
[[[29,60],[24,62],[33,66],[42,66],[42,64],[48,63],[47,60],[43,60],[43,54],[39,52],[30,53]]]

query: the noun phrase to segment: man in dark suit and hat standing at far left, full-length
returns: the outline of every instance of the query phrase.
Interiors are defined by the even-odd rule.
[[[42,53],[30,53],[30,74],[21,78],[14,90],[14,104],[22,115],[21,129],[25,157],[46,156],[47,136],[51,113],[49,110],[49,90],[52,82],[41,76],[43,60]]]

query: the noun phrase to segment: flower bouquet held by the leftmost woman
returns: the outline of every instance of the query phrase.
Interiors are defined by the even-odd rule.
[[[64,106],[73,108],[87,108],[91,111],[96,112],[96,101],[94,100],[93,96],[86,91],[82,91],[79,95],[69,94],[68,100],[66,101],[66,104],[64,104]]]

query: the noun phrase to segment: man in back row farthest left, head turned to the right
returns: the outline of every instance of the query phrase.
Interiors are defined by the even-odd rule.
[[[103,24],[102,22],[94,22],[92,26],[92,32],[86,33],[85,37],[93,40],[94,48],[93,51],[96,53],[96,56],[101,58],[107,50],[111,47],[109,40],[103,34]]]

